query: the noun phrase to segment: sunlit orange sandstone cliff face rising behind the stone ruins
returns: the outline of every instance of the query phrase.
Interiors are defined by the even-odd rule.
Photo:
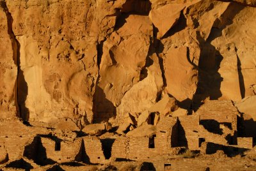
[[[256,92],[256,1],[5,0],[0,114],[122,123],[164,94],[196,110]]]

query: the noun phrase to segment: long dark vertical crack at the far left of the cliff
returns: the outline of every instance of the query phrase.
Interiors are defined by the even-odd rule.
[[[28,121],[29,110],[28,108],[25,107],[26,96],[28,95],[28,84],[24,79],[23,71],[20,70],[20,43],[17,40],[15,34],[13,33],[13,28],[12,28],[13,18],[10,11],[8,10],[6,2],[1,1],[0,5],[4,9],[4,13],[6,15],[8,34],[12,41],[13,61],[17,66],[17,79],[15,82],[15,90],[14,90],[17,116],[21,117],[25,121]]]

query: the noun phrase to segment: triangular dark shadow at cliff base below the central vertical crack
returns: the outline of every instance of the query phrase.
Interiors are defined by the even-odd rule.
[[[116,107],[106,98],[106,94],[99,85],[96,85],[93,95],[93,114],[93,123],[101,123],[116,117]]]

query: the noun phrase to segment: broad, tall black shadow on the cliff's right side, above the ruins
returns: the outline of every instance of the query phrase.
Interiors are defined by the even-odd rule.
[[[197,110],[201,101],[209,97],[210,100],[218,100],[222,96],[220,87],[223,78],[218,70],[223,60],[220,52],[211,45],[211,41],[204,41],[198,33],[200,43],[200,59],[198,63],[198,85],[193,97],[193,109]],[[214,40],[214,38],[212,38]]]

